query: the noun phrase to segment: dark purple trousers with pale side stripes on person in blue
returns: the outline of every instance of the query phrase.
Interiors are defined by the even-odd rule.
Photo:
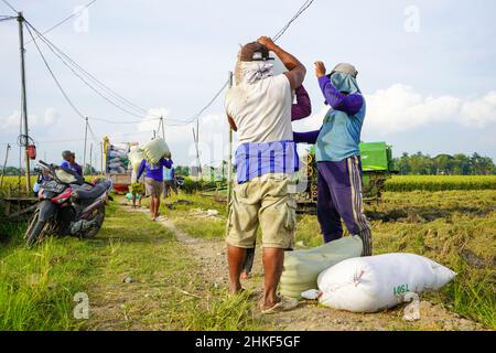
[[[362,162],[352,157],[341,162],[319,162],[317,218],[324,242],[343,237],[343,218],[352,235],[364,243],[363,256],[371,255],[370,224],[362,200]]]

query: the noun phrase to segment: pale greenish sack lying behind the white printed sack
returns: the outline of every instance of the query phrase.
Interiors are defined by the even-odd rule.
[[[310,250],[287,252],[281,295],[300,299],[302,292],[316,288],[320,272],[342,260],[360,256],[362,250],[362,239],[348,236]]]

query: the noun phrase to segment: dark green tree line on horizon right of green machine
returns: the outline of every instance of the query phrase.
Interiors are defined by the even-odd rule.
[[[496,165],[492,158],[478,153],[472,156],[439,154],[431,157],[417,152],[403,153],[393,159],[393,165],[402,175],[494,175]]]

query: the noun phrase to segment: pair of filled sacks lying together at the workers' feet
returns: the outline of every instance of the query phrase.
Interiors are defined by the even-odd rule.
[[[345,237],[311,250],[287,253],[281,295],[317,299],[352,312],[377,312],[439,290],[456,274],[419,255],[359,257],[359,237]],[[319,288],[316,290],[315,288]]]

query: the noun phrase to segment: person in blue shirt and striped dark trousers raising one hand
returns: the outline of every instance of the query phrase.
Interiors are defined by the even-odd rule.
[[[370,256],[371,233],[362,200],[359,151],[366,108],[356,81],[358,72],[351,64],[338,64],[326,75],[324,63],[316,62],[315,74],[331,109],[321,130],[294,132],[294,140],[316,143],[317,218],[324,242],[343,236],[343,218],[349,233],[360,236],[363,256]]]

